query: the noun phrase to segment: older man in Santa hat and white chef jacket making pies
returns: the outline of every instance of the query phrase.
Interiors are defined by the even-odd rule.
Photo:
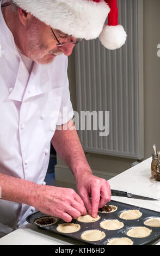
[[[70,24],[65,27],[63,23],[63,7],[65,4],[69,8],[69,2],[0,2],[1,236],[25,224],[34,209],[70,222],[87,213],[96,217],[98,209],[110,200],[109,184],[93,175],[72,121],[67,56],[78,39],[73,33],[76,15],[72,17],[75,25],[70,33]],[[104,1],[79,2],[93,4],[96,9],[98,4],[101,10],[106,8],[99,31],[90,35],[90,39],[95,38],[102,31],[110,9]],[[54,17],[50,3],[62,17]],[[50,22],[54,19],[55,27]],[[87,35],[82,38],[89,39]],[[74,129],[56,129],[69,122]],[[51,141],[75,175],[79,195],[70,188],[44,185]]]

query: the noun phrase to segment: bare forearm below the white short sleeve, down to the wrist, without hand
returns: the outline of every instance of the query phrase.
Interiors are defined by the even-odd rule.
[[[72,120],[70,121],[70,125],[71,124],[75,127]],[[58,155],[60,155],[67,166],[72,170],[75,178],[77,178],[79,174],[82,175],[82,172],[92,173],[79,140],[76,127],[74,130],[70,130],[69,128],[67,130],[56,130],[52,138],[52,145]]]

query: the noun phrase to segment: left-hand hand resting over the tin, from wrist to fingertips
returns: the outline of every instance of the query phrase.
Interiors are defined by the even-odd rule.
[[[87,214],[83,200],[71,188],[38,185],[33,199],[36,209],[66,222]]]

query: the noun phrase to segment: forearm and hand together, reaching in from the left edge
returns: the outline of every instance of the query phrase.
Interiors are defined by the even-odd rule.
[[[2,199],[34,206],[46,215],[71,222],[82,214],[86,215],[83,200],[71,188],[38,185],[34,182],[14,178],[0,173]],[[2,206],[2,205],[1,205]]]

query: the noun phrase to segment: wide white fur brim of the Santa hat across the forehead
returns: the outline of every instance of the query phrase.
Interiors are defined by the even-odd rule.
[[[52,28],[86,40],[97,38],[110,11],[104,0],[13,0]]]

